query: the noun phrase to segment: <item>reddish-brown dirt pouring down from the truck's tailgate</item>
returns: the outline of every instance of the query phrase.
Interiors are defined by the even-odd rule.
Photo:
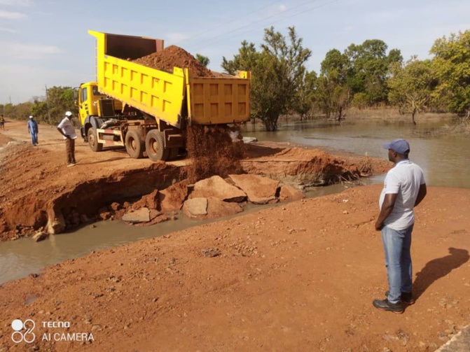
[[[193,160],[188,169],[189,182],[214,175],[225,178],[228,174],[242,173],[240,160],[246,151],[242,141],[232,141],[230,132],[235,131],[235,127],[222,125],[188,127],[186,149]]]

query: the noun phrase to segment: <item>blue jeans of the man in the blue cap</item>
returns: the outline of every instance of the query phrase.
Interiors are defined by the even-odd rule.
[[[402,292],[411,292],[413,267],[411,265],[411,232],[413,225],[406,230],[382,228],[382,243],[385,252],[385,267],[389,281],[390,303],[400,302]]]

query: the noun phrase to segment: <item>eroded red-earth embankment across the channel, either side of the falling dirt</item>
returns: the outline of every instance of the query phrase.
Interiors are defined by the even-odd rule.
[[[70,169],[37,161],[50,160],[46,150],[21,146],[11,152],[1,164],[1,240],[29,236],[37,231],[59,233],[90,220],[101,220],[106,216],[100,215],[111,211],[111,204],[117,202],[117,207],[127,209],[126,202],[164,190],[191,172],[188,166],[149,162],[145,167],[130,164],[109,176],[94,176],[87,172],[87,166],[78,165],[74,170],[79,172],[71,176],[66,174]],[[25,158],[33,160],[32,167],[22,167]],[[352,160],[322,150],[261,145],[247,146],[247,158],[239,162],[241,169],[234,174],[267,176],[300,189],[384,172],[388,165],[385,160],[367,157]]]

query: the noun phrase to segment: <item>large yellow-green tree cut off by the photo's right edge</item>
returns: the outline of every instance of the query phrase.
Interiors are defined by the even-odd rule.
[[[430,50],[432,69],[438,78],[436,99],[445,101],[452,113],[470,118],[470,31],[443,36]]]

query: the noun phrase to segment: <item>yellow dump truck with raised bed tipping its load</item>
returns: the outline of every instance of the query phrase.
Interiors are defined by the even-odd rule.
[[[123,146],[134,158],[167,160],[186,146],[186,127],[246,122],[250,73],[193,77],[133,60],[163,50],[160,39],[88,31],[96,37],[95,82],[78,90],[81,135],[94,151]]]

